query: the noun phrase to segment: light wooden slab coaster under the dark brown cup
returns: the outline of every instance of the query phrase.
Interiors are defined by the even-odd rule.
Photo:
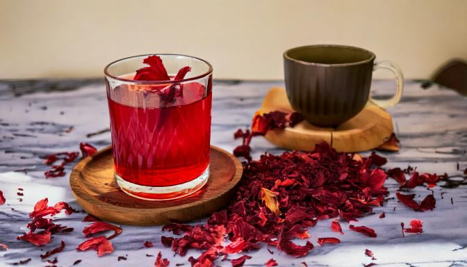
[[[293,111],[284,88],[272,88],[264,97],[260,115],[271,111]],[[367,104],[354,118],[336,128],[316,127],[303,121],[295,127],[274,129],[265,138],[279,147],[312,151],[315,145],[326,141],[338,152],[360,152],[374,149],[393,133],[391,115],[378,106]]]

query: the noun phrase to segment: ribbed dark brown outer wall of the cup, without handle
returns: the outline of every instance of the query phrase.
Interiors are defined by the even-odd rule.
[[[288,100],[311,124],[336,126],[350,120],[368,102],[373,61],[333,66],[284,57]]]

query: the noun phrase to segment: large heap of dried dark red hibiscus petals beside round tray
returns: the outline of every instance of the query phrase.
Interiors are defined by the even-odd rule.
[[[313,250],[311,242],[297,245],[293,239],[309,238],[308,227],[317,220],[356,220],[382,205],[388,194],[383,186],[386,173],[378,168],[382,162],[375,154],[355,160],[327,143],[317,145],[313,152],[264,154],[259,161],[244,165],[243,179],[229,207],[213,213],[206,225],[166,225],[163,230],[183,236],[163,236],[162,242],[181,256],[189,248],[205,250],[197,259],[190,257],[192,265],[202,266],[213,266],[220,255],[259,249],[259,243],[295,257],[305,256]],[[333,227],[341,232],[340,225]],[[350,229],[376,236],[368,227]],[[231,243],[224,246],[225,235]],[[338,239],[320,243],[338,243]]]

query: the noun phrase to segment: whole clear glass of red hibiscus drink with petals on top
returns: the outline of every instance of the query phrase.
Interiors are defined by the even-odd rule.
[[[191,56],[133,56],[106,74],[115,178],[148,200],[195,193],[209,176],[211,64]]]

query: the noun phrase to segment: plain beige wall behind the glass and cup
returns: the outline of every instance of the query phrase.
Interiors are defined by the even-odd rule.
[[[102,76],[156,52],[205,58],[215,78],[283,79],[282,52],[318,43],[370,49],[424,79],[467,60],[467,1],[0,0],[0,79]]]

